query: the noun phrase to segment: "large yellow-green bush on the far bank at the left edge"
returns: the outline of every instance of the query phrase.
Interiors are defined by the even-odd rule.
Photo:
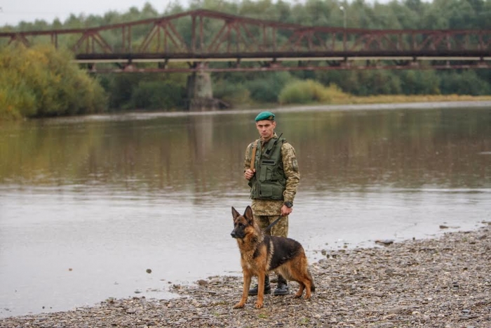
[[[0,119],[102,112],[105,92],[53,46],[0,49]]]

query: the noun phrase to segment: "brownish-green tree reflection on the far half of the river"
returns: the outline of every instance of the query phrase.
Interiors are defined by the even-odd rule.
[[[248,114],[3,127],[1,183],[102,184],[194,192],[242,188],[241,158],[256,138]],[[288,112],[302,188],[489,183],[490,110]],[[230,183],[234,181],[234,183]],[[191,191],[191,190],[189,190]]]

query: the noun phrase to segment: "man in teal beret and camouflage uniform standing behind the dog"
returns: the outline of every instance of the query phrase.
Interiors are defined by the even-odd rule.
[[[278,137],[274,132],[276,121],[273,113],[260,112],[255,122],[260,138],[248,145],[244,161],[244,177],[249,181],[253,215],[260,227],[265,229],[281,214],[280,221],[266,233],[288,237],[288,214],[293,211],[293,199],[300,183],[295,149],[285,138],[281,138],[281,135]],[[264,280],[264,294],[270,293],[267,275]],[[287,282],[278,275],[274,295],[286,294]],[[257,295],[257,286],[249,290],[249,295]]]

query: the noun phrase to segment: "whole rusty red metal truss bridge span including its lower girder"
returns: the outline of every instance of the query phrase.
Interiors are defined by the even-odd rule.
[[[353,29],[199,9],[81,29],[0,32],[0,46],[51,43],[93,72],[491,68],[490,29]]]

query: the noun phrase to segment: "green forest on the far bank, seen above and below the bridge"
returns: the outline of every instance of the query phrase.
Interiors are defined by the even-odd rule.
[[[97,27],[205,8],[307,26],[370,29],[491,29],[491,0],[250,1],[192,0],[166,8],[20,22],[1,32]],[[342,9],[341,9],[342,8]],[[140,38],[144,37],[144,32]],[[115,39],[121,39],[114,36]],[[136,42],[138,36],[135,37]],[[141,41],[141,40],[140,40]],[[38,63],[36,63],[36,58]],[[73,54],[48,46],[0,47],[0,119],[128,110],[185,110],[187,73],[90,74]],[[29,66],[30,65],[30,66]],[[214,72],[213,96],[234,107],[329,103],[332,95],[491,95],[491,70],[330,70]]]

